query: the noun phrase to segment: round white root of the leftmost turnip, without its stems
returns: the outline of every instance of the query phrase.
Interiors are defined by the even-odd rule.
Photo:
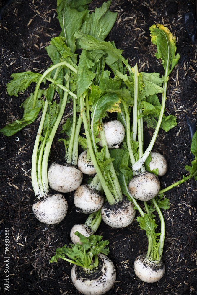
[[[32,206],[35,217],[46,224],[58,224],[68,210],[66,199],[61,194],[46,195]]]

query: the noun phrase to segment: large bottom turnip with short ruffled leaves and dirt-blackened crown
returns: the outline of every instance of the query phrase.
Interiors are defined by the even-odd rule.
[[[79,232],[75,232],[75,235],[80,238],[80,243],[56,249],[56,255],[50,262],[57,262],[58,258],[62,258],[73,263],[71,279],[82,294],[105,294],[113,287],[116,279],[115,266],[106,256],[109,253],[109,248],[106,247],[109,241],[101,241],[100,235],[85,237]]]

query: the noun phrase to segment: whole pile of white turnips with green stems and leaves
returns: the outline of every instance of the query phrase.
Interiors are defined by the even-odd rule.
[[[179,60],[175,37],[167,27],[152,25],[151,41],[164,73],[161,78],[159,73],[138,72],[137,64],[131,67],[114,42],[105,41],[117,17],[109,10],[111,1],[92,13],[88,10],[90,2],[57,1],[62,32],[46,47],[53,65],[43,75],[12,75],[7,84],[9,95],[17,96],[32,82],[36,88],[23,103],[21,122],[8,124],[1,132],[13,135],[33,122],[42,109],[32,154],[32,186],[37,199],[33,213],[40,222],[58,224],[67,213],[66,193],[74,192],[76,211],[88,214],[87,221],[74,225],[73,244],[56,249],[50,262],[62,258],[73,263],[71,279],[76,289],[82,294],[99,295],[109,291],[116,279],[115,266],[106,256],[109,242],[95,235],[100,222],[122,228],[140,214],[137,221],[146,231],[148,250],[136,258],[135,274],[148,283],[164,276],[165,223],[161,208],[168,209],[169,200],[163,193],[191,177],[196,179],[197,152],[193,143],[195,160],[192,167],[187,166],[190,174],[161,190],[159,177],[167,173],[167,161],[152,149],[159,129],[167,132],[177,124],[174,116],[164,115],[168,77]],[[78,58],[77,49],[81,49]],[[42,82],[44,89],[40,89]],[[161,104],[158,93],[162,94]],[[61,126],[64,161],[49,165],[51,145],[67,103],[72,105],[72,116]],[[115,119],[111,120],[110,114]],[[146,122],[155,131],[144,151]],[[84,151],[78,156],[79,146]],[[84,183],[84,175],[90,177],[89,183]],[[161,222],[158,233],[154,211]]]

